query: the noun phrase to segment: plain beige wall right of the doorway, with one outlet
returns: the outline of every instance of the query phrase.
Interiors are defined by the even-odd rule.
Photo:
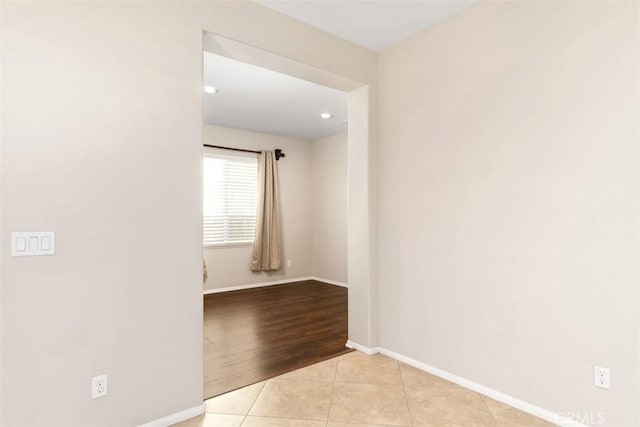
[[[382,347],[640,424],[638,8],[481,3],[379,55]]]

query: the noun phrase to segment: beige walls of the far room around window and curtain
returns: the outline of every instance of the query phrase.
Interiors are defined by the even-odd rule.
[[[250,245],[207,247],[204,249],[204,257],[209,268],[209,278],[205,282],[205,290],[311,276],[311,141],[205,125],[204,142],[248,150],[281,148],[286,154],[285,158],[278,161],[284,268],[269,273],[252,273]],[[291,260],[291,267],[287,267],[287,260]]]

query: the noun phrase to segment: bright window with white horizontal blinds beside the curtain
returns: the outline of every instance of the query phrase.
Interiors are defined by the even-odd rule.
[[[253,243],[258,160],[206,153],[202,176],[202,243],[205,246]]]

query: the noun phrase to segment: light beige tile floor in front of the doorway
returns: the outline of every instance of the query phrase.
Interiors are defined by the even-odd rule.
[[[209,399],[179,427],[549,426],[394,359],[352,352]]]

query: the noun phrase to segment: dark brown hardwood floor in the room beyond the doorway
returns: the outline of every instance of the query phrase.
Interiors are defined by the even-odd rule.
[[[347,289],[314,280],[204,297],[204,397],[344,354]]]

